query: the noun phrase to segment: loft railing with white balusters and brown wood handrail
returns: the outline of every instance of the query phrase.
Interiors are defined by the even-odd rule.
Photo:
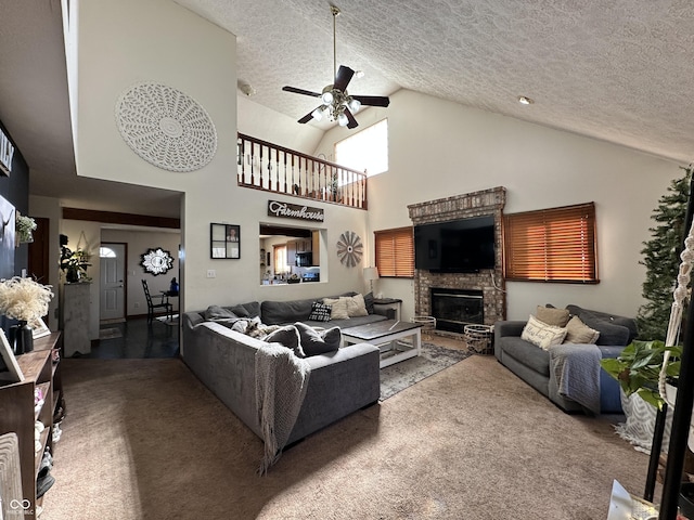
[[[367,209],[367,174],[249,135],[237,139],[239,185]]]

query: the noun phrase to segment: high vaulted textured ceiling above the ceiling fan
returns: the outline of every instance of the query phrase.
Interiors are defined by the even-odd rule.
[[[253,101],[299,118],[332,82],[324,0],[177,0],[235,34]],[[345,0],[337,63],[350,92],[410,89],[678,161],[694,157],[690,0]],[[535,100],[517,103],[518,95]]]

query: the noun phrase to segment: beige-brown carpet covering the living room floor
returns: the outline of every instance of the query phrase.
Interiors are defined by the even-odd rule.
[[[260,440],[180,361],[62,368],[43,520],[596,520],[613,479],[645,482],[647,456],[607,420],[562,413],[489,356],[309,437],[265,478]]]

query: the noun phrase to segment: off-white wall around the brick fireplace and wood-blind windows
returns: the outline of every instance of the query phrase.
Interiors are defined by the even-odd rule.
[[[541,109],[532,105],[529,109]],[[388,118],[389,170],[369,180],[369,235],[411,225],[407,206],[494,186],[506,188],[506,213],[594,202],[601,283],[507,283],[507,317],[527,318],[537,304],[576,303],[635,315],[645,271],[651,213],[674,162],[606,142],[484,113],[400,90],[388,108],[358,115],[361,128]],[[335,128],[316,153],[332,154],[347,134]],[[414,313],[411,281],[380,280],[377,292],[402,298]]]

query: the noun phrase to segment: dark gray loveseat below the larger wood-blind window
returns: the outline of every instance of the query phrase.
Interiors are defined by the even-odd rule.
[[[595,342],[602,358],[616,358],[638,335],[635,321],[601,311],[567,306],[570,315],[600,332]],[[550,377],[550,352],[520,338],[525,321],[500,321],[494,324],[494,355],[499,362],[565,412],[586,408],[560,393]],[[619,384],[605,370],[600,372],[601,413],[621,413]]]

